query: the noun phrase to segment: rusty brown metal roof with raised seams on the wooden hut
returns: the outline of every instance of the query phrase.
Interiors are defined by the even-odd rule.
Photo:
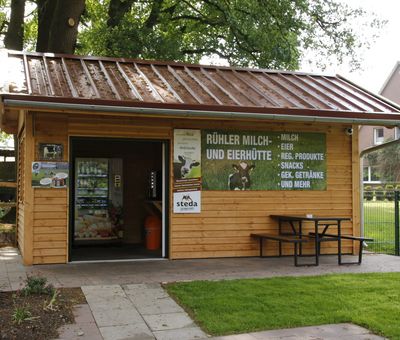
[[[330,115],[399,113],[339,76],[5,51],[0,94],[32,100]],[[396,115],[397,116],[397,115]]]

